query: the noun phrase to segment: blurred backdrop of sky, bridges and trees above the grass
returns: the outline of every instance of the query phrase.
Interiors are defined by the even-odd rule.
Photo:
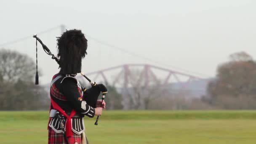
[[[0,109],[48,109],[59,69],[39,44],[40,85],[33,84],[32,35],[56,54],[56,37],[66,29],[85,33],[83,72],[108,85],[108,109],[255,109],[255,6],[253,0],[1,2]]]

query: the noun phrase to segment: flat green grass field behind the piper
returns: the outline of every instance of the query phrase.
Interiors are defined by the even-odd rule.
[[[90,144],[256,144],[256,111],[105,111]],[[0,112],[0,144],[47,144],[48,112]]]

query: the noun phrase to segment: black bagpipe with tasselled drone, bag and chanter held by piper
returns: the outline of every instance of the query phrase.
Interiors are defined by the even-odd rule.
[[[35,84],[38,85],[39,78],[38,78],[38,71],[37,71],[37,41],[42,45],[43,50],[45,53],[47,53],[49,56],[51,56],[51,59],[54,59],[59,64],[59,59],[54,56],[53,53],[51,53],[50,49],[40,40],[40,38],[37,37],[37,35],[33,35],[33,37],[36,39],[36,76],[35,76]],[[93,80],[89,79],[87,76],[85,76],[82,72],[80,73],[86,80],[88,80],[91,84],[91,88],[86,90],[84,87],[83,91],[84,93],[88,95],[93,95],[90,98],[87,96],[83,96],[83,100],[86,101],[87,104],[89,104],[91,107],[96,107],[96,101],[98,100],[98,96],[100,93],[102,93],[101,101],[105,99],[105,96],[107,94],[107,88],[103,84],[97,84]],[[86,90],[86,91],[85,91]],[[98,125],[99,116],[97,116],[96,122],[94,125]]]

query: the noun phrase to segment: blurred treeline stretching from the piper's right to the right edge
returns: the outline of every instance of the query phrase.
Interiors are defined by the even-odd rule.
[[[207,93],[199,98],[186,88],[161,85],[160,80],[140,85],[139,77],[136,70],[130,72],[130,88],[120,101],[124,109],[256,109],[256,62],[245,52],[233,53],[220,64]]]

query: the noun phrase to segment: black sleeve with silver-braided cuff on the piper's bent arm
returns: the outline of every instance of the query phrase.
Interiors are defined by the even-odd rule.
[[[78,91],[77,81],[73,77],[65,77],[61,81],[61,90],[77,112],[88,117],[94,117],[95,109],[83,101]]]

